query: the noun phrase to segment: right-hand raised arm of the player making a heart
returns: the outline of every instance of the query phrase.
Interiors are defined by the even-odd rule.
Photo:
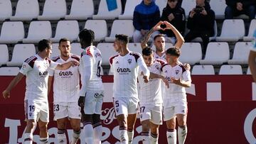
[[[169,23],[168,21],[164,21],[164,24],[166,25],[166,28],[164,28],[165,30],[166,29],[170,29],[171,31],[174,32],[174,35],[177,39],[177,42],[175,43],[175,47],[176,48],[181,48],[181,46],[183,45],[183,43],[185,42],[183,36],[181,35],[180,32],[178,32],[178,30],[173,26],[171,25],[171,23]]]

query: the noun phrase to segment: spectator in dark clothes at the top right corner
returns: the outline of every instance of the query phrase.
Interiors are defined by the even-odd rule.
[[[225,19],[245,14],[250,20],[255,18],[255,0],[226,0]]]

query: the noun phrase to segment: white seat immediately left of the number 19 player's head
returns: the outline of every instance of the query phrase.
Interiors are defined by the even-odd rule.
[[[33,44],[16,44],[14,46],[13,55],[11,61],[7,62],[7,66],[11,67],[21,67],[23,62],[33,55],[36,55],[36,48]]]

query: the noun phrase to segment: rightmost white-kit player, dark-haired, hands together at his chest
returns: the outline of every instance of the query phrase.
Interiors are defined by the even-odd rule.
[[[181,52],[178,48],[166,50],[167,64],[161,67],[164,77],[169,81],[169,89],[164,89],[164,121],[167,126],[168,143],[176,144],[176,123],[178,121],[178,143],[186,140],[186,118],[188,112],[185,87],[191,87],[191,74],[189,70],[178,61]]]

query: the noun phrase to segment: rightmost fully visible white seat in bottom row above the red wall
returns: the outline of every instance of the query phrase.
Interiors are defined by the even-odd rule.
[[[242,67],[241,65],[222,65],[219,74],[242,74]]]

